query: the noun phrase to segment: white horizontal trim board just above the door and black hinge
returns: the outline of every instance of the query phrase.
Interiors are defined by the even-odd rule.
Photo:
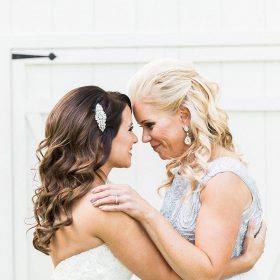
[[[81,34],[14,34],[2,36],[11,48],[114,48],[114,47],[217,47],[217,46],[277,46],[275,32],[150,32],[150,33],[81,33]],[[234,53],[232,53],[234,55]]]

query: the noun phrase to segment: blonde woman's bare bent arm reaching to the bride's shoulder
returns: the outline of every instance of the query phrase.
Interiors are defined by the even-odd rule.
[[[234,269],[238,269],[235,272],[237,274],[244,269],[238,268],[239,260],[227,268],[240,217],[247,203],[242,200],[244,190],[246,192],[247,188],[243,182],[231,173],[219,174],[209,181],[201,197],[202,206],[197,218],[195,246],[181,237],[160,213],[146,202],[135,203],[126,198],[126,202],[106,206],[103,210],[125,211],[139,219],[166,261],[182,278],[219,279],[226,276],[224,273],[231,274]],[[98,191],[100,189],[96,190]],[[116,193],[120,193],[120,189],[117,192],[107,189],[106,195],[99,196],[103,197],[99,205],[108,204],[110,195]],[[127,194],[120,198],[124,197],[127,197]]]

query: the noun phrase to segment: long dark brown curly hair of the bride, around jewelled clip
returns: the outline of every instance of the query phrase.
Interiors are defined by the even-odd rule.
[[[97,103],[107,115],[104,132],[95,120]],[[32,228],[37,250],[48,255],[54,233],[73,221],[73,203],[90,191],[96,177],[105,182],[100,167],[109,158],[126,106],[131,109],[124,94],[85,86],[67,93],[50,112],[45,139],[36,150],[41,183],[32,199]]]

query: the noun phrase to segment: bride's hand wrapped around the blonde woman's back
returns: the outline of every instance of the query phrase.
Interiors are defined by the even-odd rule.
[[[254,222],[250,221],[246,238],[244,241],[243,256],[248,260],[248,270],[250,270],[263,254],[265,247],[266,224],[263,221],[259,233],[254,237]],[[242,257],[242,256],[241,256]]]

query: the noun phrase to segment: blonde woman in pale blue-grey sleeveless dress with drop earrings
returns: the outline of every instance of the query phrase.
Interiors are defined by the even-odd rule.
[[[170,160],[161,213],[127,185],[96,187],[93,205],[138,220],[182,279],[258,279],[254,269],[243,273],[253,264],[245,268],[239,256],[249,221],[251,236],[260,231],[262,208],[217,107],[217,85],[181,61],[161,60],[140,69],[129,93],[142,141]],[[265,226],[257,238],[264,235]]]

